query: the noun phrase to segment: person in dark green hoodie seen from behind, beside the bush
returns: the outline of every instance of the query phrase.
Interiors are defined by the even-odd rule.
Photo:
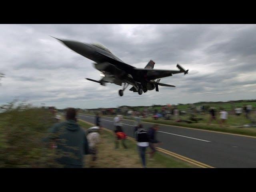
[[[83,156],[89,154],[89,147],[86,132],[76,122],[76,110],[68,108],[66,121],[54,124],[50,133],[48,139],[57,148],[57,162],[64,168],[82,168]]]

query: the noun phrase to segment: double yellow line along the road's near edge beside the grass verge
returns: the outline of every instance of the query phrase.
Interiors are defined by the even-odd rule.
[[[81,120],[81,119],[78,119],[78,120],[79,120],[79,121],[82,121],[82,122],[85,122],[85,123],[87,123],[87,124],[90,124],[90,125],[94,125],[93,123],[87,122],[87,121],[85,121],[85,120]],[[109,130],[109,129],[104,128],[104,127],[102,127],[102,128],[103,128],[104,130],[108,131],[108,132],[112,132],[112,130]],[[132,138],[132,137],[127,136],[127,138],[128,138],[129,140],[136,141],[136,140],[135,140],[134,138]],[[212,166],[210,166],[210,165],[201,163],[201,162],[199,162],[199,161],[190,159],[190,158],[185,157],[185,156],[182,156],[182,155],[180,155],[180,154],[176,154],[176,153],[174,153],[174,152],[165,150],[165,149],[160,148],[160,147],[156,147],[156,150],[158,150],[158,151],[160,151],[160,152],[162,152],[162,153],[164,153],[164,154],[168,154],[168,155],[170,155],[170,156],[173,156],[173,157],[175,157],[175,158],[178,158],[178,159],[180,159],[180,160],[183,160],[183,161],[185,161],[185,162],[188,162],[188,163],[190,163],[190,164],[196,165],[196,166],[201,167],[201,168],[214,168],[214,167],[212,167]]]

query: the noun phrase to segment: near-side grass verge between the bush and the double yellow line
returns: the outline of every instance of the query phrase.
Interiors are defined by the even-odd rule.
[[[87,129],[92,125],[79,121],[80,126]],[[125,150],[121,144],[118,149],[114,149],[114,134],[106,130],[100,133],[101,143],[98,145],[98,160],[93,162],[96,168],[142,168],[136,142],[126,139],[128,147]],[[149,150],[149,149],[147,149]],[[148,168],[195,168],[196,166],[183,162],[172,156],[168,156],[161,152],[156,152],[153,161],[146,158]],[[90,167],[92,161],[90,156],[86,157],[85,166]]]

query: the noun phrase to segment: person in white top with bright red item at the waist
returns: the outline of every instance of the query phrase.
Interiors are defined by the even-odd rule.
[[[116,149],[119,146],[119,141],[120,140],[121,140],[122,145],[124,146],[124,148],[127,149],[127,146],[125,144],[126,134],[122,130],[122,115],[117,115],[114,118],[114,126],[115,126],[114,133],[115,133],[115,137],[116,137],[116,140],[115,140]]]

